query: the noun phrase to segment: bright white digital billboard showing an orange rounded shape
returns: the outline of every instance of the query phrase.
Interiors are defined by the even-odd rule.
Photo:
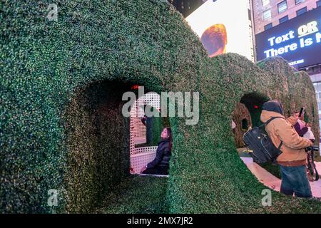
[[[234,52],[254,61],[249,0],[206,1],[186,18],[208,56]]]

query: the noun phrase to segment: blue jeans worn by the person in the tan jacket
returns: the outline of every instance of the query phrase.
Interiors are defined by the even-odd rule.
[[[312,197],[311,187],[307,179],[307,170],[305,165],[286,167],[280,165],[282,184],[281,192],[285,195],[297,197]]]

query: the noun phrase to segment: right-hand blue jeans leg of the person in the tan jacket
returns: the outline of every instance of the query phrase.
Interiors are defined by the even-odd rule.
[[[312,192],[309,180],[307,178],[307,172],[305,165],[294,167],[295,176],[297,177],[297,181],[293,187],[295,192],[295,196],[311,198]]]

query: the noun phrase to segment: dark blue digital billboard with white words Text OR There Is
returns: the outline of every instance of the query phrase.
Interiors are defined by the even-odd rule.
[[[258,61],[282,56],[291,66],[321,63],[321,7],[277,25],[256,38]]]

